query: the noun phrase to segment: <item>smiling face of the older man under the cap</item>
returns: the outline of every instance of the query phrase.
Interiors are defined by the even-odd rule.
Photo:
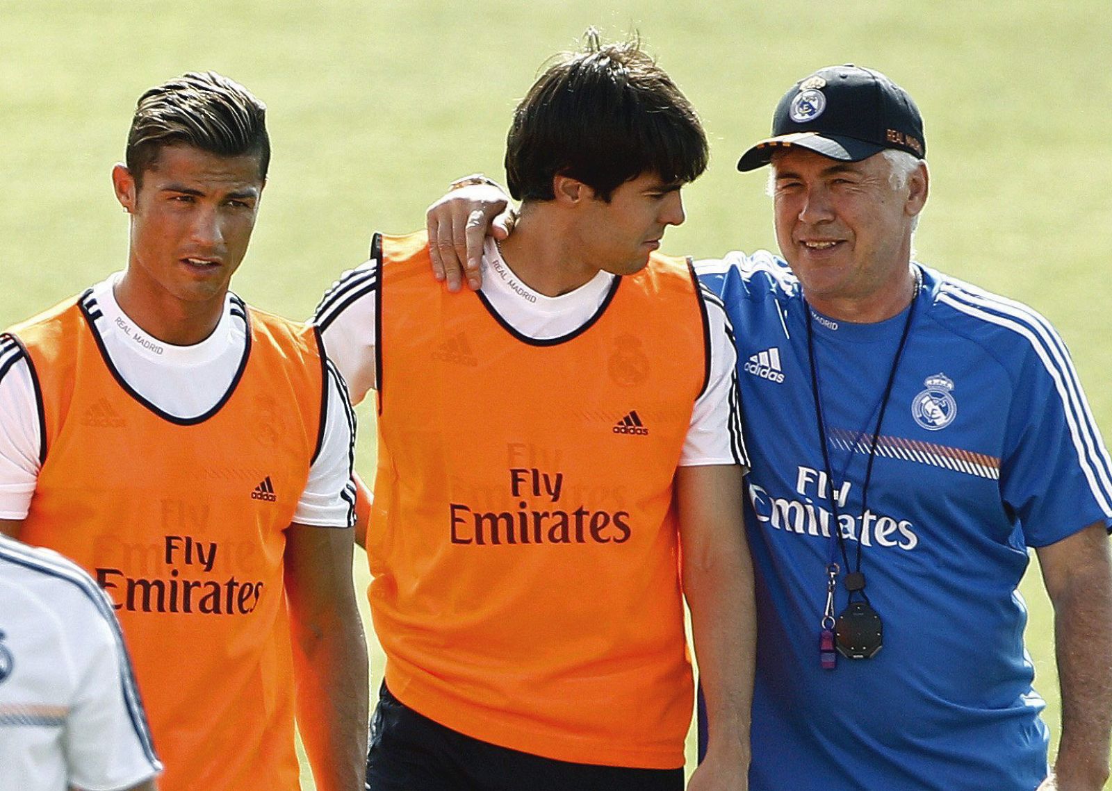
[[[926,170],[895,188],[883,154],[842,162],[801,147],[776,153],[776,241],[817,310],[903,293],[913,220],[926,200]]]

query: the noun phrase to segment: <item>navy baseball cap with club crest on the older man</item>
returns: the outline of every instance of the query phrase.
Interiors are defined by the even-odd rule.
[[[737,169],[756,170],[790,146],[846,162],[884,149],[926,156],[923,119],[907,91],[853,64],[828,66],[796,82],[776,106],[772,137],[742,154]]]

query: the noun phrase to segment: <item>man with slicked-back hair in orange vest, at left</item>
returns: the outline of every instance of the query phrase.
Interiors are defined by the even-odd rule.
[[[109,594],[169,791],[296,788],[295,708],[317,788],[363,788],[350,405],[310,328],[228,290],[268,159],[242,86],[147,91],[127,269],[0,336],[0,530]]]

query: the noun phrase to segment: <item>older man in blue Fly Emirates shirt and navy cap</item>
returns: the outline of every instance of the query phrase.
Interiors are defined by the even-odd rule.
[[[1056,788],[1098,791],[1112,462],[1050,323],[912,260],[925,153],[903,89],[821,69],[738,163],[772,166],[784,259],[696,264],[736,331],[752,452],[751,788],[1054,788],[1016,593],[1031,548],[1055,612]],[[434,224],[453,202],[504,206],[479,190]]]

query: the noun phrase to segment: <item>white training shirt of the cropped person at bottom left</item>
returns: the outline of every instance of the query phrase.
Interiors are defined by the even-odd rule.
[[[0,537],[0,791],[128,789],[160,771],[111,603],[57,552]]]

